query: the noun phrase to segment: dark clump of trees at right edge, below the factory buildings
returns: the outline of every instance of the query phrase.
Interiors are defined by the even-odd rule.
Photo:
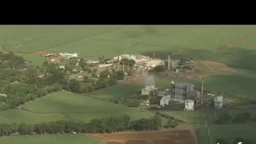
[[[224,125],[224,124],[231,124],[231,123],[246,123],[249,121],[256,121],[256,116],[252,117],[251,113],[238,113],[234,117],[227,113],[222,113],[218,116],[218,120],[215,121],[216,124]]]

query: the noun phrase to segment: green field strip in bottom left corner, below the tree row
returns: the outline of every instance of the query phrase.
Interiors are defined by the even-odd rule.
[[[83,134],[0,137],[1,144],[105,144]]]

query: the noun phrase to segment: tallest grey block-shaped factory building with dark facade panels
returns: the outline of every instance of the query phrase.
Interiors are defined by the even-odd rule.
[[[195,85],[189,83],[171,82],[171,100],[185,102],[186,99],[194,97]]]

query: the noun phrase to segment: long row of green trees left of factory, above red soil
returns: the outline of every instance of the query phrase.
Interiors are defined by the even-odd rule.
[[[128,115],[121,117],[107,117],[93,119],[89,123],[75,121],[55,121],[40,123],[36,125],[29,124],[0,124],[0,136],[9,136],[12,133],[21,135],[32,134],[53,134],[53,133],[114,133],[125,130],[146,131],[160,130],[162,120],[159,116],[149,119],[140,119],[130,121]]]

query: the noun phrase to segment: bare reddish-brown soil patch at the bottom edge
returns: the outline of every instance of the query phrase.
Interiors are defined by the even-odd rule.
[[[189,130],[96,133],[93,138],[108,144],[195,144]]]

